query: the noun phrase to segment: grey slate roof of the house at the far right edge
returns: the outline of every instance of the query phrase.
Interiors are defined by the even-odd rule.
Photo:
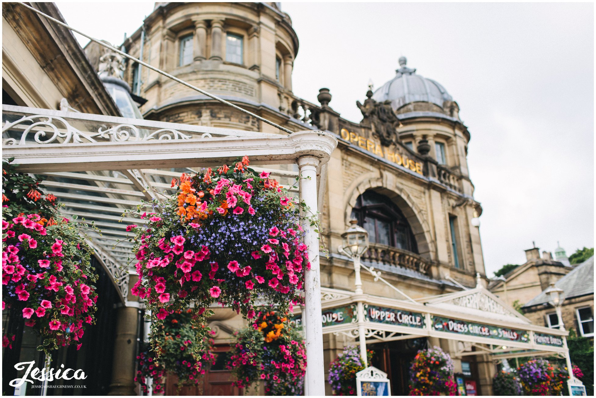
[[[566,299],[594,294],[594,256],[582,262],[555,283],[556,287],[563,289]],[[524,307],[548,303],[549,299],[544,291],[534,297]]]

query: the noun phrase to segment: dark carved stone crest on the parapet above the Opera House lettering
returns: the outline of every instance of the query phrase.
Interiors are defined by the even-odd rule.
[[[377,102],[371,98],[372,96],[372,90],[368,90],[364,104],[356,101],[356,106],[364,116],[361,124],[371,127],[373,134],[381,140],[381,145],[390,146],[397,143],[398,134],[395,129],[401,123],[391,108],[391,101]]]

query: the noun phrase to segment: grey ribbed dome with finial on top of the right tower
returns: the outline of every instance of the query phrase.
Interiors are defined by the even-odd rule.
[[[399,58],[400,68],[392,80],[375,90],[373,99],[377,102],[391,101],[397,110],[411,102],[430,102],[443,108],[445,101],[453,101],[451,95],[434,80],[416,74],[415,69],[406,67],[406,57]]]

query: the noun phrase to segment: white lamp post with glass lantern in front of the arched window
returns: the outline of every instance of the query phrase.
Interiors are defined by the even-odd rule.
[[[364,297],[362,292],[362,279],[360,278],[360,258],[368,250],[368,232],[358,225],[358,221],[350,220],[350,227],[342,234],[342,246],[337,250],[348,256],[354,263],[355,293],[354,299],[358,302],[358,336],[360,340],[360,356],[364,366],[367,361],[367,341],[364,330]]]

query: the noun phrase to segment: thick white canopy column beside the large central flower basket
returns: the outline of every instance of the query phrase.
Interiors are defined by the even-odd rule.
[[[317,211],[316,167],[319,159],[303,156],[298,159],[300,171],[300,199]],[[325,369],[323,367],[323,330],[321,322],[321,271],[319,269],[319,240],[316,239],[315,227],[310,222],[303,224],[306,231],[305,243],[308,246],[308,258],[311,269],[305,271],[305,308],[303,321],[306,330],[306,383],[305,391],[309,396],[325,395]]]

